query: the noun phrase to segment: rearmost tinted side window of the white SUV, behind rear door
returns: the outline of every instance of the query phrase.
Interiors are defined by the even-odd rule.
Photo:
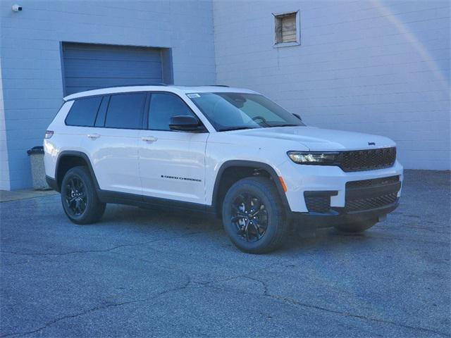
[[[97,111],[99,111],[100,102],[101,96],[75,100],[66,117],[66,125],[92,127]]]

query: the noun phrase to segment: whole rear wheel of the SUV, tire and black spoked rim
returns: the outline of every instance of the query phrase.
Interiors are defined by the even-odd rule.
[[[94,182],[86,167],[68,170],[61,183],[61,203],[75,224],[91,224],[104,215],[106,204],[99,201]]]

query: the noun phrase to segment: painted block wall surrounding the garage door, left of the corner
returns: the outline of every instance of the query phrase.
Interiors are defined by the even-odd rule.
[[[19,2],[23,11],[14,13],[13,2],[0,0],[7,135],[0,189],[8,189],[6,156],[11,189],[31,186],[26,150],[42,144],[63,97],[62,41],[169,47],[175,84],[216,82],[211,1]]]

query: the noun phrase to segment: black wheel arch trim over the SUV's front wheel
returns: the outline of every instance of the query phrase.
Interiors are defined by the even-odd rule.
[[[226,178],[224,174],[227,173],[227,170],[233,170],[235,168],[243,168],[247,170],[251,170],[252,173],[256,173],[254,175],[259,175],[259,173],[267,173],[268,177],[271,178],[273,183],[276,185],[276,189],[280,196],[280,200],[282,201],[283,207],[287,214],[290,214],[290,204],[288,204],[288,199],[285,194],[285,190],[283,189],[282,184],[280,183],[279,176],[276,173],[276,170],[268,163],[258,162],[258,161],[246,161],[246,160],[230,160],[224,162],[221,167],[218,169],[218,173],[216,175],[216,179],[214,182],[213,194],[211,199],[211,206],[216,212],[217,215],[221,215],[221,204],[225,193],[223,191],[223,182]],[[254,175],[247,175],[245,177],[251,177]],[[244,177],[241,177],[244,178]],[[235,180],[236,182],[236,180]],[[227,184],[226,184],[227,187]],[[228,190],[228,189],[227,189]]]

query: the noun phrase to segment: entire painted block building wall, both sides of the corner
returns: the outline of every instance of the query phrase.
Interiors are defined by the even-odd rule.
[[[62,41],[168,47],[175,84],[255,89],[309,125],[395,139],[406,168],[450,169],[447,1],[12,4],[0,0],[0,189],[31,186],[25,151],[61,104]],[[297,10],[301,45],[273,48],[271,13]]]

